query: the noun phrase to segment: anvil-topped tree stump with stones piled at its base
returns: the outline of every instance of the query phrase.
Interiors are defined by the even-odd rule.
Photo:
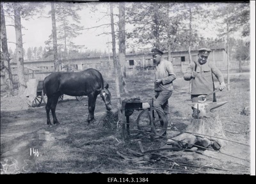
[[[179,148],[192,148],[193,146],[212,148],[214,150],[223,148],[227,144],[223,139],[227,138],[222,130],[219,116],[213,114],[212,109],[216,109],[226,103],[204,102],[192,104],[192,107],[198,109],[198,116],[195,119],[191,119],[191,123],[186,130],[182,131],[191,132],[191,134],[182,133],[176,137],[169,138],[167,144],[178,146]]]

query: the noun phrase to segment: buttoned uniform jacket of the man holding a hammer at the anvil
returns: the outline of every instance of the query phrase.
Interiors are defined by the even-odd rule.
[[[192,72],[195,70],[197,75],[193,78]],[[208,61],[204,65],[200,65],[198,61],[189,64],[184,79],[191,80],[191,95],[207,95],[213,91],[212,73],[220,83],[224,81],[220,70]]]

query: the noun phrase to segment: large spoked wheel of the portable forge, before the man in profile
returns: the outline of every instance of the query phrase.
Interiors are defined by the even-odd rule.
[[[154,134],[154,137],[163,135],[168,126],[168,121],[164,112],[152,107],[152,113],[152,123],[150,123],[150,108],[142,111],[137,119],[138,130],[143,131],[142,134],[148,138],[150,138],[150,135],[152,136],[152,134]]]

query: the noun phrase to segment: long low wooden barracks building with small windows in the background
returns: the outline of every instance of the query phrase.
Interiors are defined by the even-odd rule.
[[[175,72],[184,72],[186,66],[189,65],[189,54],[188,51],[178,51],[172,52],[172,63],[175,67]],[[192,60],[198,59],[198,50],[191,50]],[[168,60],[168,52],[164,52],[164,59]],[[227,52],[225,49],[212,50],[208,57],[208,61],[213,62],[218,68],[224,70],[227,69]],[[62,60],[62,63],[67,61]],[[105,69],[109,66],[113,66],[113,57],[85,57],[80,59],[69,59],[70,64],[75,65],[77,70],[85,70],[86,68],[97,68]],[[12,68],[15,70],[17,64],[13,63]],[[60,70],[64,70],[60,65]],[[152,55],[148,54],[127,54],[126,55],[126,68],[138,67],[148,67],[154,66]],[[45,72],[54,72],[54,61],[24,61],[25,68],[39,68]],[[14,71],[13,71],[14,72]],[[14,72],[15,73],[15,72]],[[26,73],[26,72],[25,72]]]

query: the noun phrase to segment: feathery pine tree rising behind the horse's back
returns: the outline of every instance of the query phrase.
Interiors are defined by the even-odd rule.
[[[69,51],[81,49],[81,45],[76,45],[72,40],[76,38],[81,31],[83,30],[83,26],[79,26],[81,24],[81,17],[78,14],[78,11],[81,10],[81,4],[71,4],[71,3],[51,3],[52,4],[52,30],[56,31],[56,38],[51,34],[49,36],[49,40],[45,42],[48,45],[48,55],[52,54],[53,50],[50,45],[52,45],[52,40],[54,41],[54,47],[58,47],[57,51],[59,52],[60,58],[67,61],[67,70],[70,70],[70,63],[68,61]],[[54,38],[54,39],[53,39]],[[57,45],[58,42],[58,45]],[[54,56],[56,58],[57,56]],[[56,59],[54,59],[56,60]],[[57,59],[58,60],[58,59]],[[56,60],[56,61],[57,61]],[[64,63],[65,64],[65,63]],[[65,64],[65,65],[66,65]],[[72,70],[72,69],[71,69]]]

